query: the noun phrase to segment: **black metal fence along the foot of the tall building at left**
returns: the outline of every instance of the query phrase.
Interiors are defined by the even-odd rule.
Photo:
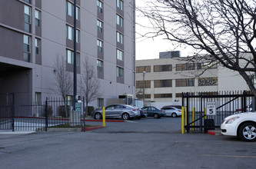
[[[5,94],[4,97],[3,95],[0,95],[0,130],[47,131],[48,128],[56,125],[85,124],[82,113],[85,104],[82,101],[78,103],[81,109],[72,111],[73,102],[63,101],[61,98],[47,98],[40,104],[15,104],[14,94]],[[5,97],[8,97],[8,101],[3,99]]]

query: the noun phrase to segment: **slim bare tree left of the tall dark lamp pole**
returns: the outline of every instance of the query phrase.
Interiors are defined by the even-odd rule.
[[[73,86],[73,81],[71,74],[66,71],[66,61],[62,56],[61,58],[57,56],[56,61],[54,62],[55,68],[55,91],[60,94],[63,98],[65,105],[65,116],[68,117],[68,110],[66,104],[66,96],[70,93]]]

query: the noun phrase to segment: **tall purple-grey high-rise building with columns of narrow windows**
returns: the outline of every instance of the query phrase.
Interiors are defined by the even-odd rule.
[[[88,59],[99,79],[105,106],[108,98],[135,94],[135,0],[0,1],[0,93],[31,103],[56,92],[56,58],[74,71],[77,46],[78,95],[83,63]],[[76,11],[76,37],[74,37]],[[68,94],[70,99],[71,90]]]

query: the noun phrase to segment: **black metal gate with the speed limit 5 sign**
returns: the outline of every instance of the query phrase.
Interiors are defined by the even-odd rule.
[[[246,91],[182,93],[187,132],[208,132],[220,129],[221,122],[231,114],[254,111],[254,95]]]

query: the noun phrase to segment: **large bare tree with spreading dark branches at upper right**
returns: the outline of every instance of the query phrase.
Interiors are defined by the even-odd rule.
[[[164,35],[173,45],[194,48],[244,78],[251,92],[256,71],[256,2],[253,0],[148,0],[138,9],[151,22],[142,35]],[[249,54],[248,54],[249,53]]]

